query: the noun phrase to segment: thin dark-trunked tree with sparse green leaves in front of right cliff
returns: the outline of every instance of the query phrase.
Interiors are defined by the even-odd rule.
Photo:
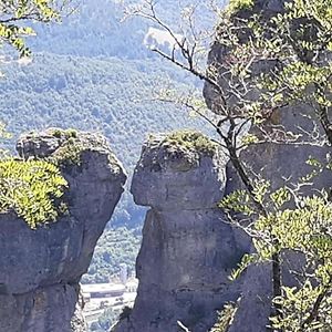
[[[174,31],[157,15],[153,0],[131,12],[167,31],[174,39],[173,50],[153,51],[203,80],[214,95],[209,106],[217,120],[204,112],[196,97],[180,96],[177,102],[217,131],[242,183],[242,189],[227,196],[220,207],[229,211],[235,226],[250,235],[256,252],[243,257],[232,277],[250,263],[271,262],[274,299],[270,329],[331,331],[331,189],[314,187],[315,177],[332,168],[330,155],[323,159],[308,156],[312,172],[294,183],[284,179],[278,188],[273,179],[262,178],[246,165],[246,151],[261,144],[294,148],[332,145],[332,1],[276,3],[279,8],[264,11],[259,1],[232,0],[219,12],[211,1],[219,15],[212,46],[219,59],[210,58],[207,69],[199,66],[199,56],[209,34],[195,30],[194,7],[185,11],[181,31]],[[165,101],[172,97],[169,92],[163,96]],[[312,124],[309,132],[300,123],[298,128],[288,128],[278,121],[290,107],[301,106],[305,108],[303,117]],[[248,220],[256,222],[248,226]],[[295,288],[282,280],[287,251],[303,257],[300,270],[289,269],[297,278]]]

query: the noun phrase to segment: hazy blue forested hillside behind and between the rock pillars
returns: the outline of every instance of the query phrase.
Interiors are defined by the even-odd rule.
[[[144,45],[151,22],[139,18],[121,22],[122,2],[138,1],[79,2],[77,10],[62,24],[35,23],[38,37],[28,39],[33,52],[31,62],[0,58],[0,72],[4,74],[0,81],[0,118],[13,134],[6,145],[12,147],[22,132],[49,126],[97,131],[110,138],[131,175],[148,133],[203,128],[199,120],[190,118],[176,106],[153,101],[155,92],[165,84],[188,90],[194,84],[200,89],[199,82],[163,62]],[[200,4],[204,14],[204,3]],[[166,22],[177,27],[181,13],[178,1],[159,1],[157,8]],[[207,14],[199,22],[212,24]],[[111,225],[136,228],[143,217],[144,209],[133,204],[127,191]],[[115,251],[107,245],[110,238],[118,243]],[[127,262],[133,270],[138,247],[136,230],[108,229],[84,281],[105,281],[121,262]]]

